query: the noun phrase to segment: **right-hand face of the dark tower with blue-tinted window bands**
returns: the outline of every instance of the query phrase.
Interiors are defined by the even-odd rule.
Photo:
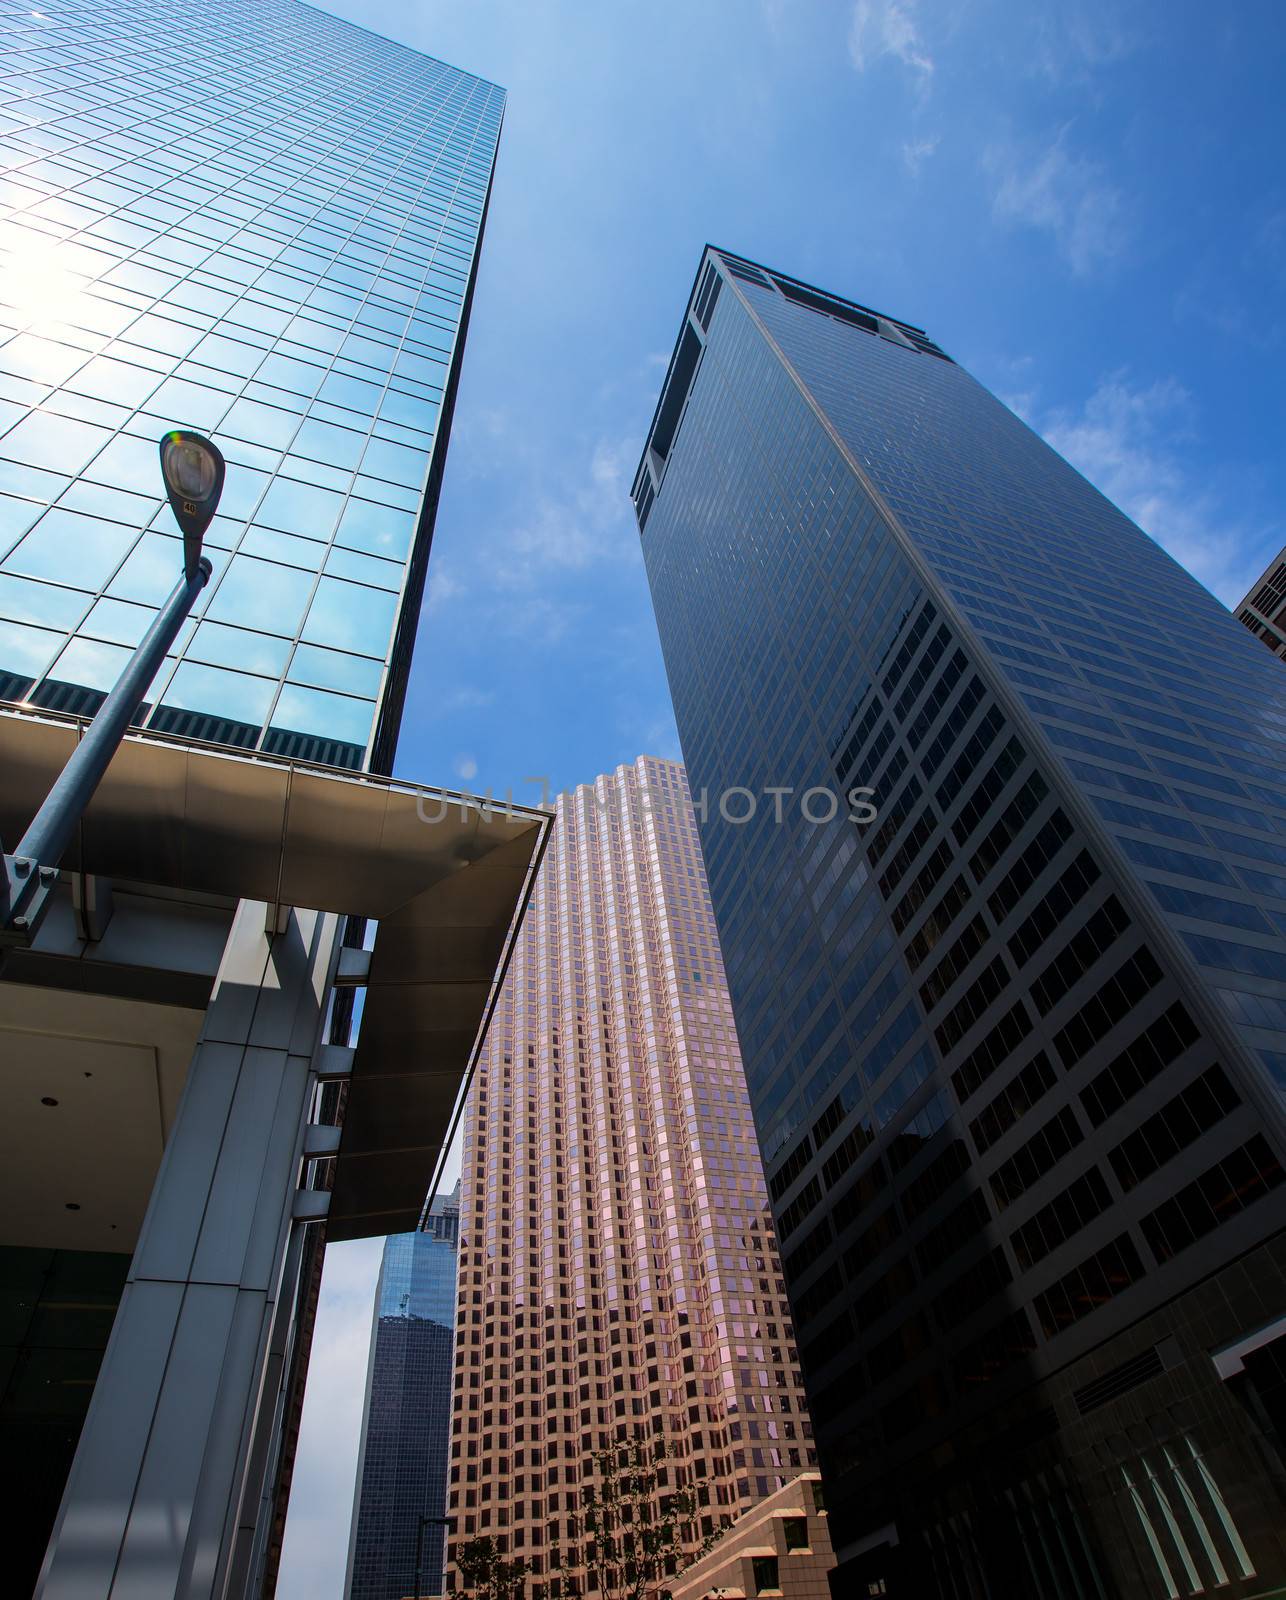
[[[1276,662],[960,366],[803,317],[771,290],[744,293],[1108,832],[1123,845],[1164,843],[1174,822],[1188,824],[1192,864],[1136,856],[1139,878],[1158,890],[1248,1048],[1281,1074],[1286,875],[1273,867],[1286,867],[1286,682]],[[1164,626],[1140,627],[1140,616]],[[1121,797],[1129,826],[1113,810]],[[1227,883],[1219,901],[1184,906],[1160,893],[1211,864]]]

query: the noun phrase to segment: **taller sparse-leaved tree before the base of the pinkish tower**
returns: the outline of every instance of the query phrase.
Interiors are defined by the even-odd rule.
[[[693,1536],[696,1494],[667,1488],[664,1440],[595,1451],[582,1469],[585,1566],[603,1600],[645,1600],[665,1576],[665,1558]]]

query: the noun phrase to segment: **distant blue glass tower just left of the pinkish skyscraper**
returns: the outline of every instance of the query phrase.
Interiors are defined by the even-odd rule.
[[[384,1243],[349,1544],[349,1600],[441,1594],[459,1184]],[[419,1571],[416,1557],[419,1555]],[[419,1589],[416,1589],[419,1578]]]

